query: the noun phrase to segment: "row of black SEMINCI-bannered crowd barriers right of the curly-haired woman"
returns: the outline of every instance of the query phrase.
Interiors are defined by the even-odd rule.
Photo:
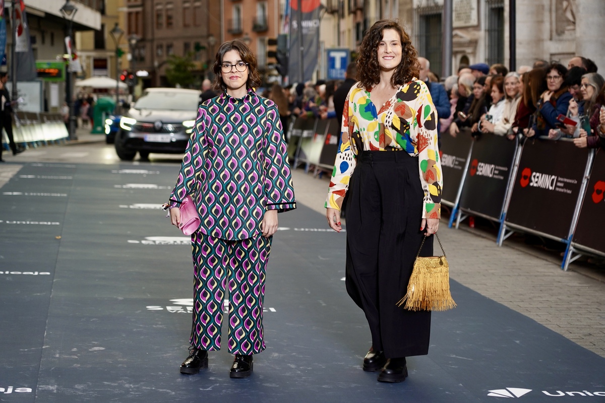
[[[442,137],[450,227],[476,215],[500,224],[499,246],[515,231],[557,240],[566,245],[564,270],[581,254],[605,256],[605,238],[595,236],[605,225],[604,151],[595,158],[567,139],[469,138]]]

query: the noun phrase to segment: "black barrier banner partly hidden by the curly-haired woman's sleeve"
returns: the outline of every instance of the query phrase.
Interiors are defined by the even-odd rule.
[[[460,182],[464,173],[468,152],[473,144],[470,129],[461,129],[456,137],[449,134],[441,136],[439,156],[441,157],[441,170],[443,172],[443,201],[456,202]]]

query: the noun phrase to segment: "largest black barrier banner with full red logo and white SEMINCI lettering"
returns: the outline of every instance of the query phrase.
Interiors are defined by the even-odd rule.
[[[505,222],[567,239],[588,155],[571,141],[526,141]]]

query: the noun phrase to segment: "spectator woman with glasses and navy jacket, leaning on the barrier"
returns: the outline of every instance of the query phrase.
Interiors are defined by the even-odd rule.
[[[527,137],[548,136],[549,131],[556,129],[559,125],[558,115],[567,114],[572,95],[569,93],[567,85],[564,85],[565,74],[567,74],[567,69],[559,63],[551,63],[546,69],[548,89],[543,92],[538,101],[534,126],[523,131]]]

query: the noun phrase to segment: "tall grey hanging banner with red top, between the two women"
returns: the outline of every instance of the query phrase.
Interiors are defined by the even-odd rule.
[[[290,54],[288,80],[310,80],[319,56],[319,11],[321,0],[290,0]],[[300,17],[300,18],[299,18]],[[298,21],[301,27],[298,26]],[[301,45],[304,74],[301,80]]]

